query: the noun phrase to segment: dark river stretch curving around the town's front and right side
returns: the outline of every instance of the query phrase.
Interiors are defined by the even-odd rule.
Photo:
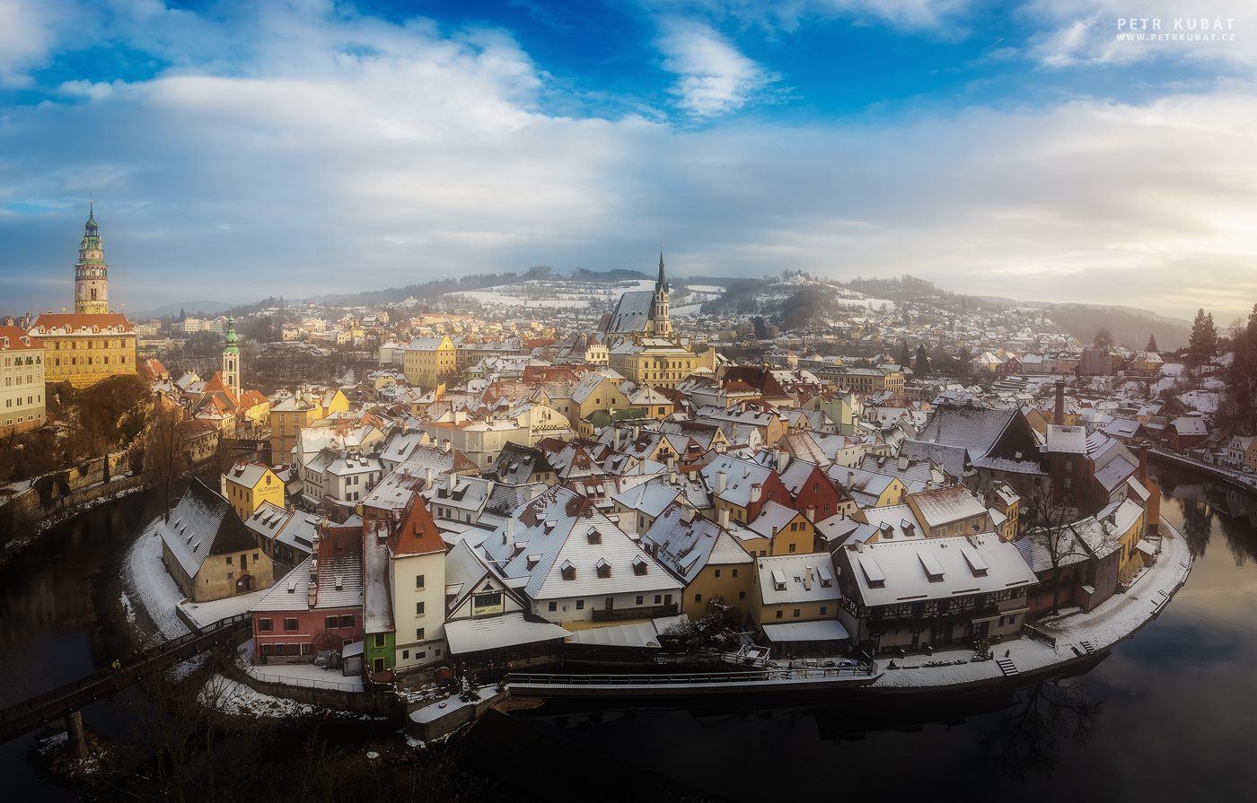
[[[953,790],[944,797],[983,800],[1251,799],[1257,533],[1247,510],[1257,514],[1257,503],[1183,473],[1158,481],[1163,515],[1197,555],[1190,578],[1156,621],[1081,677],[1016,696],[737,715],[603,711],[597,724],[543,707],[530,721],[738,800],[934,797],[944,785]]]

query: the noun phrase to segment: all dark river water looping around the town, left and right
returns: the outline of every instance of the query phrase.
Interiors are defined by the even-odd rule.
[[[889,799],[1253,799],[1257,503],[1188,475],[1159,478],[1163,514],[1197,555],[1187,586],[1090,672],[972,697],[774,711],[542,709],[529,721],[582,746],[740,800],[871,793]],[[153,511],[124,499],[57,528],[0,572],[0,705],[107,664],[116,558]],[[84,723],[126,726],[102,701]],[[73,799],[0,745],[5,798]],[[541,760],[541,759],[539,759]],[[559,762],[561,757],[553,757]],[[549,777],[549,775],[546,775]],[[612,778],[608,782],[615,783]],[[538,789],[544,798],[544,789]],[[595,799],[592,797],[591,799]]]

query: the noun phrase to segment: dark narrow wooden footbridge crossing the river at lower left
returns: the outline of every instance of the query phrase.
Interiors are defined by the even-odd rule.
[[[54,719],[67,716],[85,705],[108,697],[131,684],[161,672],[180,661],[196,656],[221,643],[240,645],[253,636],[253,621],[248,615],[219,620],[200,630],[186,633],[124,661],[119,670],[104,669],[23,700],[0,710],[0,743],[21,734],[38,730]]]

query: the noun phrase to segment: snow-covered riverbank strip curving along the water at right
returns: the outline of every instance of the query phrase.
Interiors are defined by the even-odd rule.
[[[1160,529],[1161,553],[1156,563],[1143,572],[1126,593],[1114,594],[1091,613],[1080,612],[1053,622],[1041,622],[1040,630],[1056,637],[1055,648],[1041,641],[1019,638],[992,645],[994,657],[1002,658],[1007,652],[1007,657],[1017,670],[1024,674],[1075,660],[1080,653],[1086,655],[1084,641],[1090,642],[1099,653],[1133,635],[1160,611],[1174,593],[1175,586],[1187,579],[1187,573],[1192,569],[1192,553],[1187,540],[1164,518]],[[895,658],[903,669],[887,670],[877,679],[874,687],[923,689],[992,681],[1004,676],[994,660],[953,666],[921,666],[926,661],[949,661],[972,655],[972,650],[948,650],[936,651],[933,658],[924,656]],[[879,666],[885,669],[889,662],[879,660]]]

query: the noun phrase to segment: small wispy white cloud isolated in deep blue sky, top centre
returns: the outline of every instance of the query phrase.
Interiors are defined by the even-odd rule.
[[[666,20],[662,29],[657,41],[666,57],[662,67],[679,77],[671,92],[676,104],[694,117],[734,112],[778,79],[709,25]]]

